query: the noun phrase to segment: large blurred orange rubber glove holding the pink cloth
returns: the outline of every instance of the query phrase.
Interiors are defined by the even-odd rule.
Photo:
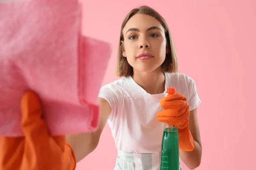
[[[0,138],[0,170],[74,170],[76,159],[65,136],[51,137],[33,92],[21,99],[24,137]]]

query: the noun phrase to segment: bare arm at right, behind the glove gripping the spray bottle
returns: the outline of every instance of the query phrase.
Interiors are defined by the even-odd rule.
[[[195,141],[195,150],[187,152],[180,150],[180,158],[189,169],[193,170],[201,164],[202,146],[197,119],[197,108],[189,113],[189,130]]]

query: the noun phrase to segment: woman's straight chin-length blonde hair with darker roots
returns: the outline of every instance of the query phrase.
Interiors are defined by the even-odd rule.
[[[118,53],[117,53],[117,61],[116,61],[116,76],[118,77],[128,77],[133,75],[133,68],[128,63],[126,57],[122,56],[122,48],[123,43],[121,41],[124,40],[123,37],[123,28],[125,27],[128,20],[130,20],[131,17],[133,17],[135,14],[146,14],[151,17],[154,17],[157,19],[161,25],[164,28],[165,36],[166,36],[166,58],[162,64],[162,71],[163,72],[169,72],[174,73],[178,70],[177,65],[177,55],[175,51],[175,47],[173,44],[172,36],[170,34],[169,27],[166,23],[166,21],[163,19],[163,17],[157,13],[154,9],[148,7],[148,6],[140,6],[140,8],[134,8],[131,10],[125,19],[123,20],[122,27],[121,27],[121,33],[120,33],[120,40],[118,44]]]

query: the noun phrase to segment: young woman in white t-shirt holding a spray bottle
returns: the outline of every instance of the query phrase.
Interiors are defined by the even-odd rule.
[[[67,137],[77,160],[94,150],[108,121],[118,150],[115,170],[159,170],[166,122],[179,128],[182,161],[189,169],[198,167],[201,101],[193,79],[176,72],[175,47],[163,17],[148,6],[133,9],[121,27],[117,76],[122,78],[99,92],[99,130]],[[167,88],[176,88],[178,94],[171,99]]]

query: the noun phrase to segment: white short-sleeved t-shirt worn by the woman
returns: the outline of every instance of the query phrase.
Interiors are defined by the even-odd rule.
[[[105,99],[112,110],[108,118],[117,150],[131,153],[160,153],[164,123],[157,121],[162,111],[160,99],[167,96],[167,88],[176,88],[183,94],[190,111],[200,104],[195,82],[180,73],[166,73],[165,92],[148,94],[134,79],[123,77],[104,85],[99,97]]]

